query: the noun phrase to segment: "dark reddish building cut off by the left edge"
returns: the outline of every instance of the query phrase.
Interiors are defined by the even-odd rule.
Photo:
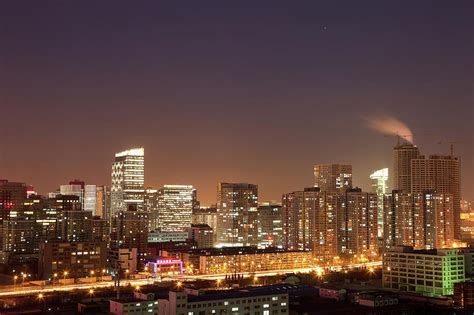
[[[10,217],[10,211],[15,211],[23,206],[26,199],[27,186],[25,183],[0,180],[0,223]]]

